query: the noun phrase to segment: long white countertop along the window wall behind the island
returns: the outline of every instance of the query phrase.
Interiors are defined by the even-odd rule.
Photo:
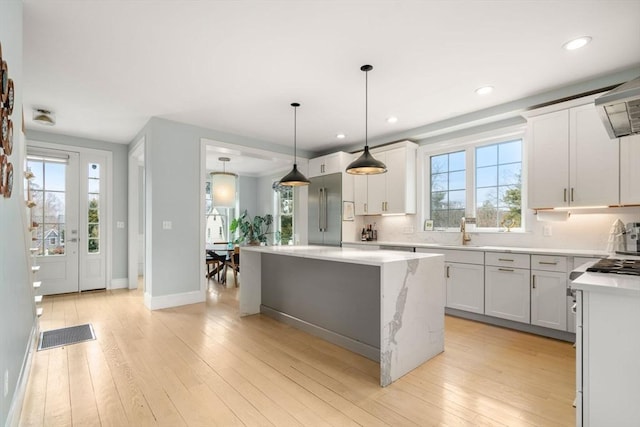
[[[524,248],[510,246],[475,246],[475,245],[445,245],[439,243],[417,243],[417,242],[342,242],[351,245],[370,245],[370,246],[399,246],[407,248],[431,248],[443,250],[464,250],[464,251],[482,251],[482,252],[511,252],[511,253],[527,253],[534,255],[566,255],[566,256],[586,256],[586,257],[608,257],[610,254],[604,250],[590,249],[552,249],[552,248]]]

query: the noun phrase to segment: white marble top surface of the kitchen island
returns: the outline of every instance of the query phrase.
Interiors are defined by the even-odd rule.
[[[300,258],[313,258],[326,261],[348,262],[378,266],[390,262],[408,261],[412,259],[438,256],[437,254],[428,253],[386,250],[371,251],[356,248],[340,248],[334,246],[243,246],[241,247],[241,250],[276,255],[288,255]]]

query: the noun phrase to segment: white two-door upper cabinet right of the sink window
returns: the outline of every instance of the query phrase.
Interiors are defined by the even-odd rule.
[[[529,118],[529,207],[619,203],[619,141],[593,103]]]

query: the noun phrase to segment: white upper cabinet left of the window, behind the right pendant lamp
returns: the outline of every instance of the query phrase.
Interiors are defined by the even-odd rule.
[[[417,150],[418,146],[410,141],[371,150],[387,166],[387,172],[355,176],[356,215],[416,213]]]

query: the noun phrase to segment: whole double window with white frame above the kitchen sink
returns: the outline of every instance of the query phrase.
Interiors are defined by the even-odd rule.
[[[436,230],[475,217],[477,231],[522,230],[522,135],[493,138],[426,154],[426,218]]]

